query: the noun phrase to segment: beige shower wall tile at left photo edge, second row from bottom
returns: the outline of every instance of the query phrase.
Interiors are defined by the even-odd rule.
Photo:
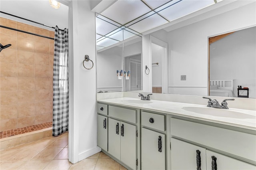
[[[18,115],[17,105],[3,105],[1,106],[1,120],[15,119]]]

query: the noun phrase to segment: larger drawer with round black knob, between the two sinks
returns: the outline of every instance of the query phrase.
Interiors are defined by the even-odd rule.
[[[165,130],[164,115],[158,115],[155,113],[141,112],[141,125],[155,128],[158,130]]]

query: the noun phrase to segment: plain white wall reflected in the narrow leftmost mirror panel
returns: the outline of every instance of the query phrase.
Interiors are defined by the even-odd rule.
[[[123,69],[123,48],[112,47],[97,53],[97,90],[122,91],[122,80],[116,76],[116,70]]]

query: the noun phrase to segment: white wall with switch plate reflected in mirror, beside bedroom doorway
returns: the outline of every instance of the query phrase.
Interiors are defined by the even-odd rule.
[[[255,6],[254,2],[168,33],[169,93],[208,95],[208,37],[255,25]],[[186,81],[180,75],[186,75]]]

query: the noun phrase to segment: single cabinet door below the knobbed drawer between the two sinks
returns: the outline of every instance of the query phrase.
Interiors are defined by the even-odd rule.
[[[142,170],[165,170],[165,134],[141,129]]]

